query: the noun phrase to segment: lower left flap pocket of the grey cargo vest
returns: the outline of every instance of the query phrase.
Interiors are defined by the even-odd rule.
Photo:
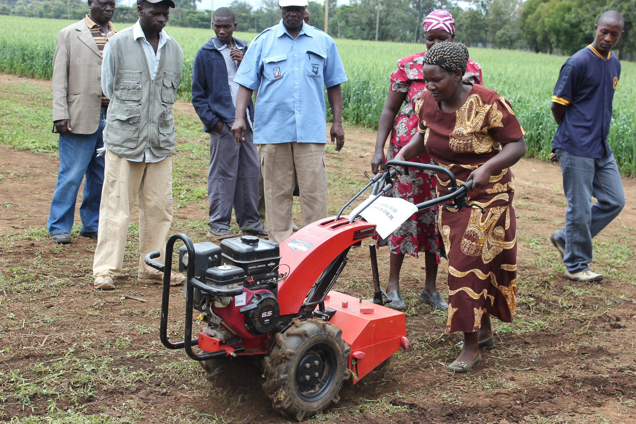
[[[141,104],[113,103],[108,112],[104,139],[121,147],[137,147],[141,127]]]

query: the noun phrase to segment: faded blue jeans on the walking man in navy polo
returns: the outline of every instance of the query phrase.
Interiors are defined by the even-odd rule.
[[[563,264],[570,273],[589,270],[592,238],[625,206],[623,183],[614,155],[595,159],[556,149],[567,200],[565,227],[556,239],[565,246]],[[591,204],[594,196],[598,202]]]

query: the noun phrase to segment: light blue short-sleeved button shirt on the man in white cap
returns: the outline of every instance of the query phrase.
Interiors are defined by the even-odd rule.
[[[333,38],[303,22],[294,39],[282,19],[252,41],[234,77],[258,90],[254,144],[326,143],[324,87],[345,81]]]

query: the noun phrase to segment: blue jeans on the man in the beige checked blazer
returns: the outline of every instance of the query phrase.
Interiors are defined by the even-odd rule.
[[[46,221],[48,232],[69,233],[75,217],[75,203],[82,178],[84,194],[79,207],[81,231],[94,233],[99,224],[99,203],[104,183],[104,156],[96,156],[95,150],[104,147],[102,130],[106,114],[100,115],[99,128],[92,134],[60,134],[58,151],[60,169],[57,173],[55,192],[51,201],[51,210]]]

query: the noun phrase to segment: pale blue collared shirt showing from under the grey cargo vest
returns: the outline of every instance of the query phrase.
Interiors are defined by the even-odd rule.
[[[146,34],[144,34],[144,30],[141,29],[141,24],[139,24],[139,20],[135,22],[135,25],[132,25],[132,36],[137,41],[137,39],[141,38],[141,45],[144,48],[144,53],[146,54],[146,61],[148,62],[148,70],[150,71],[151,79],[155,79],[157,76],[157,69],[159,69],[159,59],[161,58],[161,48],[167,41],[167,37],[165,35],[165,31],[161,31],[159,33],[159,46],[157,48],[157,52],[155,53],[155,48],[153,48],[152,44],[148,43],[146,39]],[[109,99],[113,99],[113,84],[115,80],[115,67],[113,64],[113,55],[110,53],[111,47],[109,43],[106,43],[104,46],[103,58],[102,58],[102,92]],[[155,153],[148,147],[141,156],[137,156],[136,158],[126,158],[129,161],[133,162],[147,162],[153,163],[162,161],[165,159],[165,156],[156,156]]]

